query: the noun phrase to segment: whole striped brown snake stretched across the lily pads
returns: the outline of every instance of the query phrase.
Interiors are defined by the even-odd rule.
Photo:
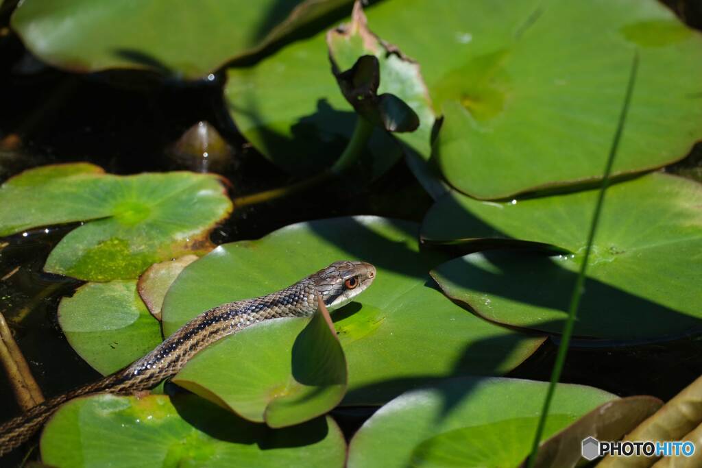
[[[312,316],[319,302],[329,310],[338,309],[366,290],[375,277],[376,268],[370,263],[341,260],[275,293],[208,309],[125,368],[39,403],[2,424],[0,456],[27,441],[71,399],[100,392],[133,394],[152,389],[176,375],[192,356],[213,342],[261,321]]]

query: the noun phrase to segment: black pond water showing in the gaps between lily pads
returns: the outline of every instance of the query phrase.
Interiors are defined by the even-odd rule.
[[[692,25],[702,25],[702,7],[673,2]],[[0,28],[6,18],[0,18]],[[91,161],[110,173],[168,171],[187,166],[168,148],[187,128],[208,121],[232,147],[221,173],[231,196],[286,185],[291,176],[267,162],[233,128],[222,102],[223,80],[193,85],[161,83],[142,74],[76,76],[33,62],[14,36],[0,32],[0,182],[25,168],[46,163]],[[8,138],[8,135],[17,135]],[[8,143],[9,142],[9,143]],[[702,152],[675,165],[700,171]],[[216,243],[255,239],[293,222],[339,215],[376,214],[420,221],[430,198],[404,163],[368,187],[320,187],[290,199],[242,208],[213,232]],[[60,297],[81,283],[42,272],[51,248],[69,227],[2,239],[0,310],[46,396],[95,380],[92,370],[65,341],[56,320]],[[1,243],[0,243],[1,245]],[[562,380],[616,394],[651,394],[669,399],[702,373],[700,337],[665,344],[581,343],[571,349]],[[546,342],[510,376],[548,380],[556,345]],[[0,420],[18,413],[11,388],[0,374]],[[339,410],[347,433],[369,410]],[[0,465],[20,462],[14,454]]]

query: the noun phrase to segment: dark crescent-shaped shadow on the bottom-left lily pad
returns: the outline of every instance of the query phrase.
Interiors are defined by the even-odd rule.
[[[244,420],[194,394],[176,393],[171,396],[171,403],[183,420],[208,436],[230,443],[256,443],[261,450],[309,446],[324,440],[329,433],[324,417],[271,429],[266,424]]]

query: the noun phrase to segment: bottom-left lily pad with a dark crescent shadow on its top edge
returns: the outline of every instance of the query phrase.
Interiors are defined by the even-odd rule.
[[[343,467],[331,418],[270,429],[197,396],[99,394],[46,424],[41,459],[55,467]]]

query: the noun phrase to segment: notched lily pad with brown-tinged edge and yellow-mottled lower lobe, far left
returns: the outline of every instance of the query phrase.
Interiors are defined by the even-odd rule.
[[[44,269],[88,281],[135,279],[153,263],[209,250],[208,233],[231,210],[215,176],[117,176],[87,163],[61,164],[0,187],[0,236],[89,220],[58,243]]]

